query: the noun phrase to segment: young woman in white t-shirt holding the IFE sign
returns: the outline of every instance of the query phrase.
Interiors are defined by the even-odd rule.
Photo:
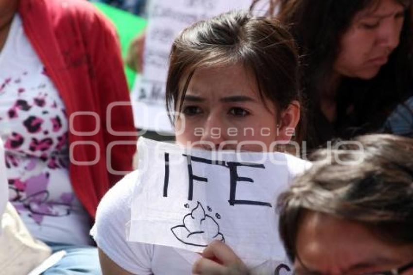
[[[206,150],[231,150],[249,141],[242,150],[267,151],[273,141],[289,141],[300,119],[291,35],[244,13],[184,30],[172,45],[166,90],[169,108],[185,117],[185,126],[179,117],[174,121],[177,142]],[[297,160],[297,167],[303,163]],[[92,235],[103,274],[190,274],[196,253],[126,241],[137,173],[123,178],[98,208]]]

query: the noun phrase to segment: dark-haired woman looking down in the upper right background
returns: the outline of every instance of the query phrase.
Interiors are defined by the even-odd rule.
[[[364,133],[413,137],[411,0],[269,2],[303,57],[310,148]]]

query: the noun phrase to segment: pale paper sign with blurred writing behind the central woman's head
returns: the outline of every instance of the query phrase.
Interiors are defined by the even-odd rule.
[[[173,134],[165,108],[168,57],[175,37],[190,24],[221,13],[248,10],[251,0],[150,0],[144,66],[131,99],[135,126]]]

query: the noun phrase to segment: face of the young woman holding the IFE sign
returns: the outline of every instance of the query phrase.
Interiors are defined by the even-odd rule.
[[[241,143],[241,150],[269,151],[273,141],[290,139],[285,126],[295,128],[299,104],[289,110],[277,127],[274,104],[262,101],[255,78],[241,65],[197,69],[175,123],[176,140],[207,150],[235,150]]]

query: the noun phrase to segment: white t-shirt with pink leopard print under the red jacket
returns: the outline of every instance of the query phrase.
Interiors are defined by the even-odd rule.
[[[90,243],[90,219],[69,178],[65,105],[18,14],[0,52],[0,68],[0,137],[9,201],[34,237]]]

